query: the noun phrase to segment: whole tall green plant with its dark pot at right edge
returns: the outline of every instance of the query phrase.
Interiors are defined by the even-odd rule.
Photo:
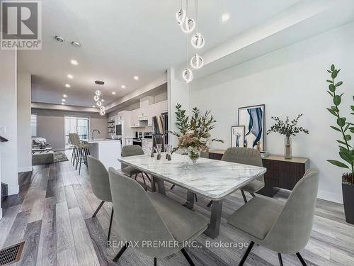
[[[331,65],[331,70],[327,71],[331,74],[331,78],[327,79],[327,82],[329,82],[329,90],[327,92],[331,95],[333,101],[333,106],[327,108],[327,110],[336,117],[336,126],[331,126],[331,128],[338,131],[341,135],[341,139],[337,140],[341,161],[328,161],[332,165],[348,170],[348,172],[343,172],[342,174],[343,205],[347,223],[354,224],[354,149],[353,143],[350,145],[350,140],[352,140],[354,133],[354,124],[348,121],[346,117],[341,116],[339,111],[343,93],[339,94],[338,89],[343,82],[336,82],[335,79],[341,70],[337,70],[335,65]],[[350,106],[350,109],[352,111],[350,114],[354,115],[354,105]]]

